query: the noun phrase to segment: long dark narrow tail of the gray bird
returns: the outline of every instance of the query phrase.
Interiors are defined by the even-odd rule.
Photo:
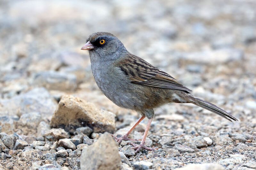
[[[199,99],[191,94],[188,94],[188,97],[189,97],[189,99],[187,101],[189,101],[189,103],[193,103],[197,106],[203,107],[213,113],[216,113],[217,115],[224,117],[225,119],[228,119],[229,121],[231,121],[230,119],[232,119],[234,121],[238,121],[233,115],[229,114],[225,110],[221,109],[220,107],[217,107],[216,105],[214,105],[212,103],[209,103],[207,101]]]

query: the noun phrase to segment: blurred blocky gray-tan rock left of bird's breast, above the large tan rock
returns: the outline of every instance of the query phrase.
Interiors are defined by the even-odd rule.
[[[57,71],[43,71],[35,75],[34,83],[48,90],[74,91],[76,89],[76,76]]]

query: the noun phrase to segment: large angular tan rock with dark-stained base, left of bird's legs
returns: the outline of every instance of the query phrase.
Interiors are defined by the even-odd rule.
[[[50,126],[74,132],[78,127],[88,126],[94,132],[115,131],[115,114],[96,108],[81,98],[65,95],[55,110]]]

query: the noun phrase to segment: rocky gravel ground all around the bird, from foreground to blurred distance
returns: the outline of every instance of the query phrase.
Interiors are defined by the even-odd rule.
[[[0,169],[256,169],[255,9],[253,0],[0,1]],[[98,31],[239,121],[168,104],[146,140],[158,150],[117,146],[104,132],[123,135],[139,115],[94,82],[80,48]]]

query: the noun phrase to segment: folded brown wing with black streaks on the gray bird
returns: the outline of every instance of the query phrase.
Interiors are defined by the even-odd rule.
[[[135,55],[128,55],[116,64],[135,84],[166,89],[192,91],[164,71]]]

